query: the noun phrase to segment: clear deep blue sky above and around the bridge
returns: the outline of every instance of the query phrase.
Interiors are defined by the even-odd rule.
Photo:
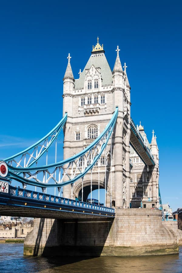
[[[128,66],[134,122],[157,136],[162,201],[182,207],[181,10],[175,0],[1,1],[0,158],[59,122],[68,53],[76,79],[99,36],[111,69],[117,45]]]

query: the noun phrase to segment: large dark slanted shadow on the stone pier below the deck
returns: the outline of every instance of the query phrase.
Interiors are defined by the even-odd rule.
[[[112,224],[102,217],[54,220],[42,256],[99,257]]]

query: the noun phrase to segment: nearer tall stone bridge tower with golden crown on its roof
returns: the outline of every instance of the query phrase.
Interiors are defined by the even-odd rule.
[[[64,128],[64,159],[79,153],[105,129],[118,106],[118,118],[106,152],[83,181],[63,187],[63,196],[86,201],[89,193],[106,188],[106,206],[130,206],[130,85],[120,62],[119,47],[113,71],[107,62],[103,45],[91,52],[79,79],[74,79],[70,54],[63,78],[63,115],[68,114]],[[82,163],[84,164],[84,162]]]

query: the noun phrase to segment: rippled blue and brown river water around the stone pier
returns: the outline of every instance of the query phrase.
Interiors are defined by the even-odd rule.
[[[182,273],[182,247],[180,254],[146,257],[99,258],[44,258],[23,256],[23,244],[0,244],[0,272],[94,272],[94,273]]]

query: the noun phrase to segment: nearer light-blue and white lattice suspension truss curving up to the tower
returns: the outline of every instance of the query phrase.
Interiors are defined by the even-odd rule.
[[[72,184],[76,180],[82,178],[94,165],[100,164],[100,156],[103,150],[106,148],[110,135],[113,131],[118,114],[118,108],[116,108],[112,119],[106,126],[103,133],[93,140],[88,147],[86,147],[82,152],[70,157],[67,160],[60,161],[58,163],[42,166],[42,167],[13,167],[8,164],[8,177],[10,179],[15,179],[21,182],[26,187],[26,184],[38,186],[38,187],[62,187],[66,184]],[[56,133],[53,137],[56,136]],[[41,144],[39,153],[48,146],[48,140],[45,139],[44,143]],[[50,143],[50,141],[49,141]],[[48,144],[49,145],[49,144]],[[37,150],[34,147],[34,152]],[[25,166],[30,164],[30,160],[33,157],[32,153],[29,154],[29,160],[26,161]],[[26,158],[22,155],[22,158]],[[38,153],[37,153],[38,154]],[[13,160],[12,160],[13,161]],[[18,162],[18,164],[20,164]]]

